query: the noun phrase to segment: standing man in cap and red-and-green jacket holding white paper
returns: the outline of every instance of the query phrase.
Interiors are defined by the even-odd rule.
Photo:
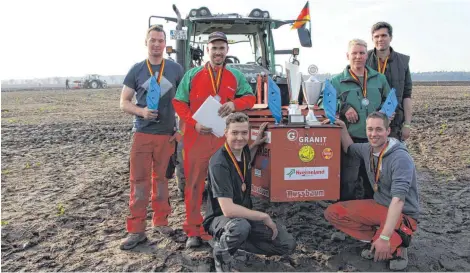
[[[209,96],[221,104],[219,115],[225,117],[234,111],[250,109],[255,96],[245,76],[238,70],[225,66],[228,53],[227,36],[222,32],[209,35],[207,53],[209,62],[186,72],[178,87],[173,105],[185,124],[184,171],[186,177],[185,205],[186,221],[183,229],[188,235],[186,247],[201,245],[201,236],[209,239],[202,227],[202,193],[207,177],[209,158],[225,142],[217,138],[212,129],[202,126],[193,118]]]

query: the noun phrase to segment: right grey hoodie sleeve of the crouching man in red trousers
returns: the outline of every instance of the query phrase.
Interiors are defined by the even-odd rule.
[[[392,162],[392,197],[405,201],[413,180],[414,164],[409,154],[406,157],[395,158]]]

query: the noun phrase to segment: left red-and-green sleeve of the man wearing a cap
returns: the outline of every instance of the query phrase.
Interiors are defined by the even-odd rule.
[[[189,90],[191,86],[192,70],[186,72],[181,82],[178,84],[175,98],[173,99],[173,107],[178,116],[189,126],[196,126],[196,121],[192,118],[191,109],[189,108]]]

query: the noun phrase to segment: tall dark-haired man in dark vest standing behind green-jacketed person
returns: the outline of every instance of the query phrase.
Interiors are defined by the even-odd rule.
[[[367,65],[385,75],[390,87],[395,88],[398,99],[395,118],[390,123],[390,137],[407,140],[413,115],[410,56],[398,53],[390,46],[393,29],[389,23],[374,24],[371,33],[375,48],[367,52]]]

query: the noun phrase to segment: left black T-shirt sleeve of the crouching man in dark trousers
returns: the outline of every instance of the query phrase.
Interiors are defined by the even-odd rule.
[[[222,164],[209,165],[211,190],[215,198],[233,198],[233,186],[230,183],[230,171]]]

